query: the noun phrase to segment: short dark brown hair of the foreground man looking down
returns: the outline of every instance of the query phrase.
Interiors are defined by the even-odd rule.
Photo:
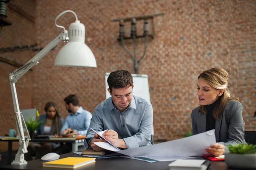
[[[133,85],[133,78],[130,72],[126,70],[116,70],[111,72],[108,76],[108,87],[110,92],[112,92],[112,88],[120,89]]]

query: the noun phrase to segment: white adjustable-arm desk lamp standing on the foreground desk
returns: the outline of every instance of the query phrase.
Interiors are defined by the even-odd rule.
[[[24,153],[28,152],[27,147],[30,140],[28,129],[26,128],[23,115],[20,112],[15,83],[27,71],[29,71],[29,69],[31,69],[34,65],[38,64],[38,61],[41,60],[41,58],[43,58],[53,47],[55,47],[61,41],[69,42],[58,53],[54,63],[55,66],[97,67],[93,52],[87,45],[84,44],[85,27],[84,24],[80,23],[80,21],[77,19],[77,16],[75,23],[70,24],[69,37],[67,30],[65,30],[63,26],[59,26],[56,24],[58,18],[67,12],[72,12],[76,16],[75,12],[67,10],[62,12],[55,18],[55,25],[59,28],[63,28],[64,31],[61,32],[61,34],[58,37],[52,40],[52,42],[49,43],[44,49],[38,52],[38,54],[35,55],[35,57],[33,57],[31,60],[29,60],[25,65],[9,74],[12,89],[12,100],[15,111],[16,126],[19,135],[19,150],[15,156],[15,160],[12,162],[13,165],[27,164],[27,161],[24,160]],[[28,135],[26,141],[24,137],[23,127],[25,128],[26,133]]]

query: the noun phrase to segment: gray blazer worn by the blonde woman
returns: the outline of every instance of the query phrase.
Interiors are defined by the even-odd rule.
[[[193,135],[206,131],[206,114],[199,112],[199,107],[192,110]],[[227,101],[223,112],[215,121],[216,142],[225,146],[246,143],[244,140],[243,107],[235,100]]]

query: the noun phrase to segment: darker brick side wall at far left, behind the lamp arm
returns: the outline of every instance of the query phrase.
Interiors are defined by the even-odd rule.
[[[35,22],[27,16],[35,17],[34,0],[15,0],[8,3],[6,18],[12,25],[4,26],[0,35],[0,49],[12,46],[26,46],[35,44]],[[22,14],[26,11],[27,15]],[[24,64],[35,55],[32,49],[14,50],[6,52],[0,51],[0,57],[9,61]],[[14,107],[12,103],[12,92],[8,75],[18,67],[0,61],[0,135],[8,134],[9,129],[16,129]],[[17,81],[16,89],[20,109],[32,107],[32,76],[33,71],[29,71]],[[8,143],[1,142],[0,152],[7,150]],[[13,143],[13,148],[18,148],[18,142]]]

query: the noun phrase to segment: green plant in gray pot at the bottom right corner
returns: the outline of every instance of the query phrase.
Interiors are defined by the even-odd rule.
[[[256,168],[256,145],[235,144],[227,146],[230,153],[225,153],[227,166],[241,169]]]

